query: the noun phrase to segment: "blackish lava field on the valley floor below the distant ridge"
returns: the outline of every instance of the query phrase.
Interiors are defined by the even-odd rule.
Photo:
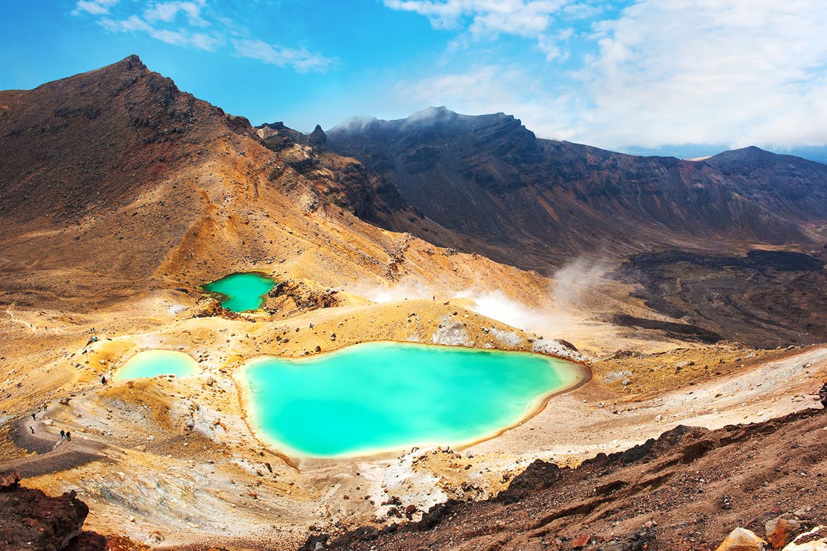
[[[827,340],[827,270],[811,254],[752,250],[734,257],[667,250],[633,255],[613,277],[640,286],[633,296],[653,310],[689,322],[614,316],[619,325],[761,348]]]

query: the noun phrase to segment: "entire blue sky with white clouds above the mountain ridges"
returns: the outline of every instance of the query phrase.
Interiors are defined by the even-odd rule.
[[[135,53],[254,124],[446,105],[614,150],[783,150],[827,144],[825,29],[823,0],[7,2],[0,88]]]

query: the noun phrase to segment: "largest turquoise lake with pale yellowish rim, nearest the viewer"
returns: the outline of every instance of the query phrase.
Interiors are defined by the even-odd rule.
[[[485,439],[584,374],[541,354],[399,343],[246,363],[257,431],[285,453],[309,457]]]

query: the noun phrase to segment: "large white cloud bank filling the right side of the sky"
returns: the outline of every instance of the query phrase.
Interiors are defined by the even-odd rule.
[[[595,2],[385,0],[436,27],[533,36],[547,60],[593,54],[576,70],[539,69],[540,59],[445,70],[397,87],[415,109],[509,112],[541,137],[623,150],[666,144],[827,143],[827,2],[823,0],[638,0],[592,26]],[[547,22],[550,21],[550,22]],[[574,30],[576,27],[578,30]],[[586,31],[584,31],[586,28]],[[589,30],[590,29],[590,30]],[[455,40],[466,55],[472,42]],[[490,50],[490,45],[486,45]],[[541,61],[542,63],[542,61]]]

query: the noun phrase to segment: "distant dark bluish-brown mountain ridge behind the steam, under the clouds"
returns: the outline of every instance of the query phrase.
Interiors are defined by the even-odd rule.
[[[444,107],[351,121],[327,138],[447,234],[404,218],[394,229],[439,245],[458,233],[459,245],[524,268],[657,245],[806,243],[827,220],[827,166],[757,148],[704,161],[636,157],[538,140],[502,113]]]

